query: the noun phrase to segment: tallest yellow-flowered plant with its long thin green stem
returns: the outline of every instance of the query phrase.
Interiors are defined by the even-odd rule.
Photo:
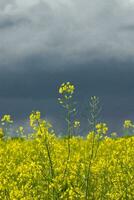
[[[70,159],[71,159],[71,138],[74,128],[79,128],[80,122],[74,121],[73,116],[76,113],[75,103],[73,101],[75,87],[70,82],[63,83],[59,88],[60,97],[59,103],[66,111],[67,122],[67,158],[64,163],[63,181],[65,182],[65,188],[68,188],[68,173],[70,173]],[[68,194],[69,195],[69,194]]]

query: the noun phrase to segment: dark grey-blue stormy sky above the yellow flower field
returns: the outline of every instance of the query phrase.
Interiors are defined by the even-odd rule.
[[[112,130],[134,120],[134,0],[0,1],[0,114],[38,109],[62,127],[64,81],[81,116],[96,95]]]

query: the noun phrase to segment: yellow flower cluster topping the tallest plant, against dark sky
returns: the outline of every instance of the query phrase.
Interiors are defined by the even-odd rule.
[[[71,84],[70,82],[63,83],[59,88],[59,93],[60,94],[73,94],[74,89],[75,89],[74,85]]]

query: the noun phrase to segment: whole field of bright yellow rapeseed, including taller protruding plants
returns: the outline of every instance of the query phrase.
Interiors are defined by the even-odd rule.
[[[80,121],[71,118],[73,91],[70,83],[59,88],[66,136],[56,135],[39,111],[29,117],[31,132],[19,127],[16,138],[6,135],[11,116],[1,118],[0,200],[134,199],[134,136],[109,134],[106,123],[96,123],[96,97],[90,101],[92,129],[86,137],[74,134]],[[133,131],[134,124],[126,120],[124,128]]]

